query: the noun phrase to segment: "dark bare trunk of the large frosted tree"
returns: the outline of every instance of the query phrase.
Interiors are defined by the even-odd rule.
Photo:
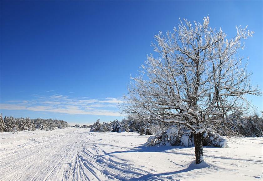
[[[200,164],[203,161],[203,133],[193,134],[193,141],[195,148],[195,163]]]

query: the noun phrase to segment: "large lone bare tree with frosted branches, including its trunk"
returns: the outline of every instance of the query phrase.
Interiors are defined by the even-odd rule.
[[[155,35],[154,51],[142,65],[140,75],[131,77],[122,109],[142,118],[183,125],[193,133],[196,164],[203,160],[203,134],[218,129],[236,110],[245,110],[245,95],[259,95],[249,83],[250,73],[241,64],[241,42],[253,32],[236,27],[236,36],[227,38],[221,30],[204,22],[183,20],[173,32]],[[214,119],[216,118],[216,119]]]

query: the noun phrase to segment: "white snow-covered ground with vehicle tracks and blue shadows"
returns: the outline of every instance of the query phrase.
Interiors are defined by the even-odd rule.
[[[0,133],[0,180],[262,180],[263,138],[229,148],[143,147],[149,136],[85,128]]]

